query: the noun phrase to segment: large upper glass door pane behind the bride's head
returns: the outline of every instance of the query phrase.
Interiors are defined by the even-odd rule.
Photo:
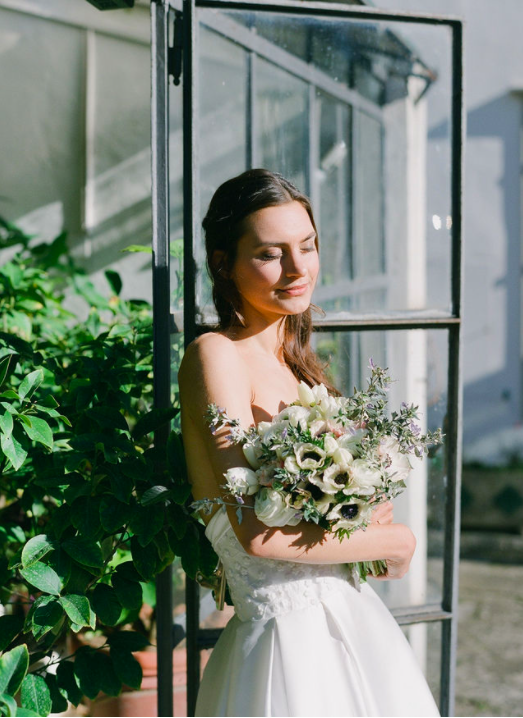
[[[450,29],[203,8],[198,16],[206,36],[250,58],[237,85],[243,114],[228,131],[245,138],[247,127],[253,163],[311,196],[322,255],[315,303],[332,318],[448,314]],[[222,70],[216,62],[214,87],[226,81]],[[224,166],[221,179],[233,174]],[[208,300],[200,293],[202,314],[212,313]]]

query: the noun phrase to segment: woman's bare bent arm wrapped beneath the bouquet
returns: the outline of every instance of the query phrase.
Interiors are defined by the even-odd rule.
[[[231,444],[228,430],[211,434],[204,415],[211,403],[226,409],[242,427],[254,424],[252,390],[243,358],[234,342],[219,334],[206,334],[187,349],[180,367],[182,429],[189,475],[195,498],[223,496],[224,473],[234,466],[248,466],[241,446]],[[246,498],[246,503],[250,497]],[[252,499],[249,505],[252,506]],[[251,508],[227,508],[231,525],[247,553],[254,556],[307,563],[345,563],[389,560],[389,578],[407,570],[415,539],[402,524],[376,522],[339,541],[334,534],[312,523],[269,528]],[[381,509],[383,510],[383,509]]]

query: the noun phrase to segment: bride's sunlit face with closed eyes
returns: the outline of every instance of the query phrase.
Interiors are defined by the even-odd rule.
[[[231,277],[248,320],[304,312],[319,271],[317,238],[307,210],[291,201],[266,207],[244,220]]]

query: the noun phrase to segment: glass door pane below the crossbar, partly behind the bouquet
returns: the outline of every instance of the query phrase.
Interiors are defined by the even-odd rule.
[[[448,333],[445,330],[321,332],[314,335],[316,351],[327,363],[335,386],[346,396],[364,388],[369,359],[388,367],[394,380],[389,408],[401,402],[419,407],[423,431],[447,422]],[[415,464],[407,490],[394,501],[395,521],[413,530],[417,547],[411,568],[401,581],[372,581],[389,608],[441,603],[445,506],[445,446],[431,450]]]

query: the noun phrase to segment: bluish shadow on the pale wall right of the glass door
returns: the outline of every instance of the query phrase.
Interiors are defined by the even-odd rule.
[[[448,136],[449,122],[430,140]],[[521,421],[521,101],[502,95],[467,113],[465,443]],[[467,376],[477,377],[471,381]]]

